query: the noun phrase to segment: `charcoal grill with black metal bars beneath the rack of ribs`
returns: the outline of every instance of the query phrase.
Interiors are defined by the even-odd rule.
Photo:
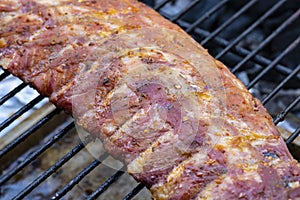
[[[208,48],[214,57],[230,67],[250,92],[267,107],[276,125],[291,124],[289,119],[292,118],[294,125],[288,128],[291,133],[287,133],[284,137],[291,153],[299,160],[300,147],[296,144],[300,133],[298,105],[300,65],[297,58],[300,55],[299,1],[272,0],[265,3],[258,0],[145,0],[143,2],[177,23]],[[7,71],[2,70],[0,84],[10,76]],[[16,87],[11,87],[7,94],[0,97],[0,106],[5,105],[26,87],[28,86],[21,81]],[[282,103],[281,99],[287,100]],[[43,106],[36,109],[36,105],[41,104],[40,102],[44,102]],[[24,117],[32,110],[35,110],[34,114]],[[88,164],[80,165],[75,174],[71,174],[71,177],[68,174],[67,180],[55,184],[55,180],[66,176],[62,171],[64,166],[76,159],[76,156],[94,140],[92,137],[86,137],[83,140],[76,140],[77,143],[74,143],[73,139],[70,142],[68,137],[76,135],[74,128],[72,119],[47,103],[47,99],[41,95],[35,95],[14,113],[9,113],[0,124],[1,134],[5,134],[4,139],[7,138],[0,143],[2,148],[0,199],[7,198],[8,192],[12,199],[33,199],[30,196],[32,193],[35,194],[35,199],[72,199],[70,194],[74,192],[74,188],[79,184],[81,188],[82,185],[89,184],[88,177],[95,171],[101,173],[101,170],[106,173],[105,179],[94,181],[98,184],[96,187],[80,190],[82,196],[77,196],[78,198],[108,199],[109,196],[114,196],[112,199],[150,198],[144,185],[128,178],[124,167],[107,170],[105,169],[107,166],[102,166],[105,165],[102,161],[109,158],[105,152],[99,159],[90,159]],[[52,155],[48,158],[49,149],[58,148],[61,143],[69,144],[69,149],[65,150],[63,156],[56,158]],[[46,160],[50,159],[48,168],[39,168],[40,170],[34,173],[32,167],[41,165],[41,161],[38,160],[43,157]],[[33,176],[30,181],[24,183],[23,179],[28,176],[26,173]],[[121,192],[120,187],[129,184],[127,181],[119,183],[123,177],[127,177],[126,180],[132,183]],[[49,179],[52,182],[49,182]],[[41,187],[45,184],[48,184],[47,187]],[[44,189],[48,187],[53,189],[45,192]],[[111,189],[113,187],[114,189]],[[115,196],[113,190],[117,191],[119,196]]]

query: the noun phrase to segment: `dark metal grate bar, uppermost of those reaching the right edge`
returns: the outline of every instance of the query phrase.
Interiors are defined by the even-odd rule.
[[[291,23],[293,23],[300,15],[300,9],[297,10],[292,16],[290,16],[286,21],[284,21],[276,30],[273,31],[271,35],[269,35],[262,43],[258,45],[258,47],[251,51],[241,62],[239,62],[233,69],[232,72],[235,73],[238,69],[240,69],[246,62],[248,62],[254,55],[258,53],[266,44],[268,44],[275,36],[277,36],[281,31],[283,31],[286,27],[288,27]]]

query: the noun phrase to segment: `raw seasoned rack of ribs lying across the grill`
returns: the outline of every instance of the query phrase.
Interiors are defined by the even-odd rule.
[[[259,100],[136,0],[2,0],[0,65],[99,137],[154,199],[297,199]]]

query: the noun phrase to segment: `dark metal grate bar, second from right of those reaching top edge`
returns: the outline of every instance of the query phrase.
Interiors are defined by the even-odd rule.
[[[238,12],[236,12],[232,17],[230,17],[226,22],[224,22],[219,28],[213,31],[208,37],[206,37],[203,41],[201,41],[201,45],[205,45],[208,41],[218,35],[222,30],[224,30],[227,26],[229,26],[234,20],[236,20],[240,15],[246,12],[249,8],[251,8],[257,0],[252,0],[244,5]]]

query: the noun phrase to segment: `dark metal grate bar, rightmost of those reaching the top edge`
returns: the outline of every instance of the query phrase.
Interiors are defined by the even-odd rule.
[[[225,49],[223,49],[220,53],[218,53],[215,58],[219,59],[222,57],[229,49],[231,49],[234,45],[240,42],[246,35],[248,35],[251,31],[254,30],[259,24],[264,22],[273,12],[275,12],[282,4],[284,4],[286,0],[282,0],[273,5],[264,15],[262,15],[258,20],[256,20],[251,26],[249,26],[243,33],[241,33],[236,39],[234,39],[230,44],[228,44]]]

